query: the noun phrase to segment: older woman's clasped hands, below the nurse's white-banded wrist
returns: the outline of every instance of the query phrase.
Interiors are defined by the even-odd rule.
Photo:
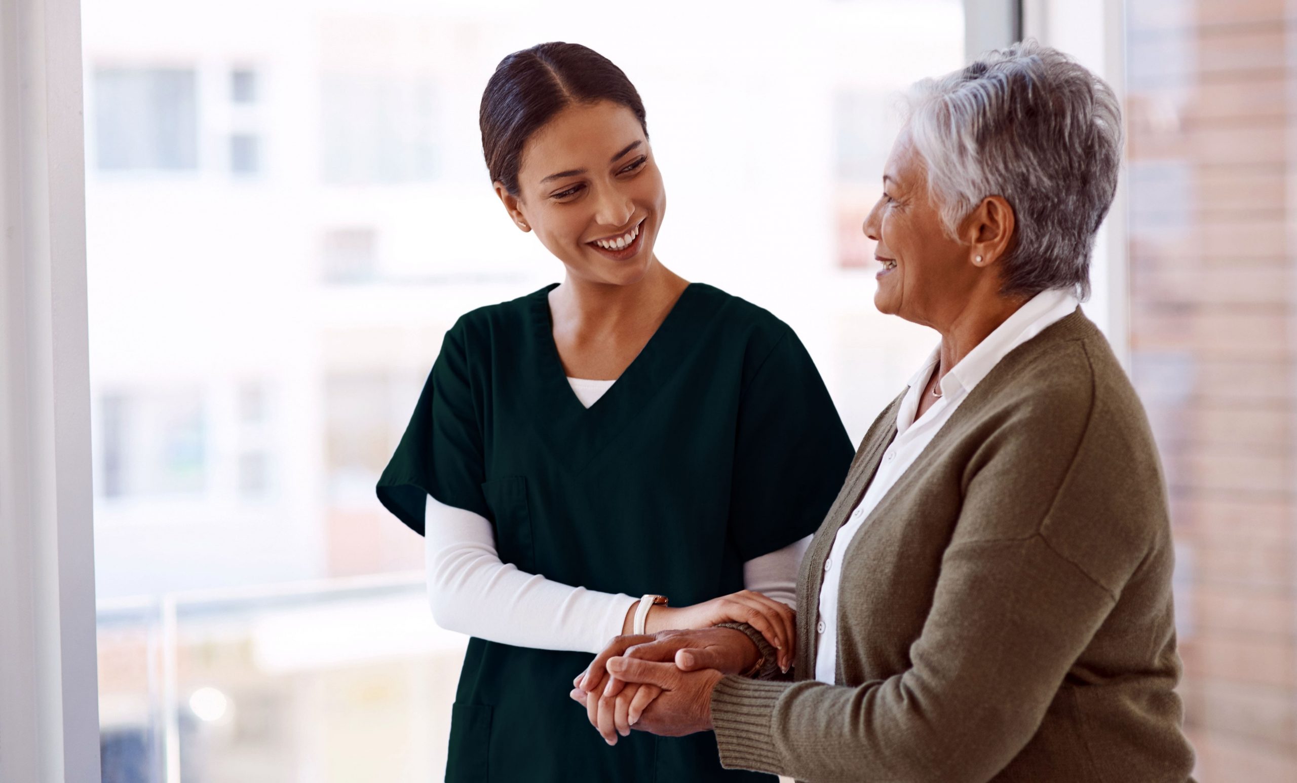
[[[781,647],[791,649],[791,639]],[[779,657],[782,668],[791,664]],[[747,634],[729,627],[617,637],[572,681],[572,699],[610,745],[632,726],[661,736],[706,731],[712,688],[759,659]]]

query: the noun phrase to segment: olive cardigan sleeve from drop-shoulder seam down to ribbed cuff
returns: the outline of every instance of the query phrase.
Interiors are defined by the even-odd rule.
[[[948,551],[908,672],[856,687],[725,677],[721,762],[816,783],[988,780],[1112,604],[1039,537]]]

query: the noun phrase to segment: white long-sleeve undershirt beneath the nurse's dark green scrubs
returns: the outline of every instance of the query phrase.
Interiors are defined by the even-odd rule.
[[[612,385],[593,384],[572,385],[586,407]],[[429,497],[424,520],[428,599],[444,629],[516,647],[599,652],[621,633],[626,612],[639,600],[501,563],[490,521],[471,511]],[[808,535],[748,560],[743,586],[795,605],[798,569],[809,546]]]

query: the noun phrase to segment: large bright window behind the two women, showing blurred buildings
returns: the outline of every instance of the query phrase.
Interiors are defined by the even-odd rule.
[[[562,279],[481,159],[505,54],[626,71],[659,257],[789,321],[853,438],[934,344],[860,223],[960,0],[494,5],[83,4],[105,783],[441,779],[464,638],[374,484],[445,329]]]

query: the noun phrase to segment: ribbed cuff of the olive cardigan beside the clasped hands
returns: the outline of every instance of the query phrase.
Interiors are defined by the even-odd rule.
[[[765,682],[733,674],[716,683],[711,707],[721,766],[782,774],[783,764],[774,749],[770,719],[774,703],[791,686],[791,682]]]

